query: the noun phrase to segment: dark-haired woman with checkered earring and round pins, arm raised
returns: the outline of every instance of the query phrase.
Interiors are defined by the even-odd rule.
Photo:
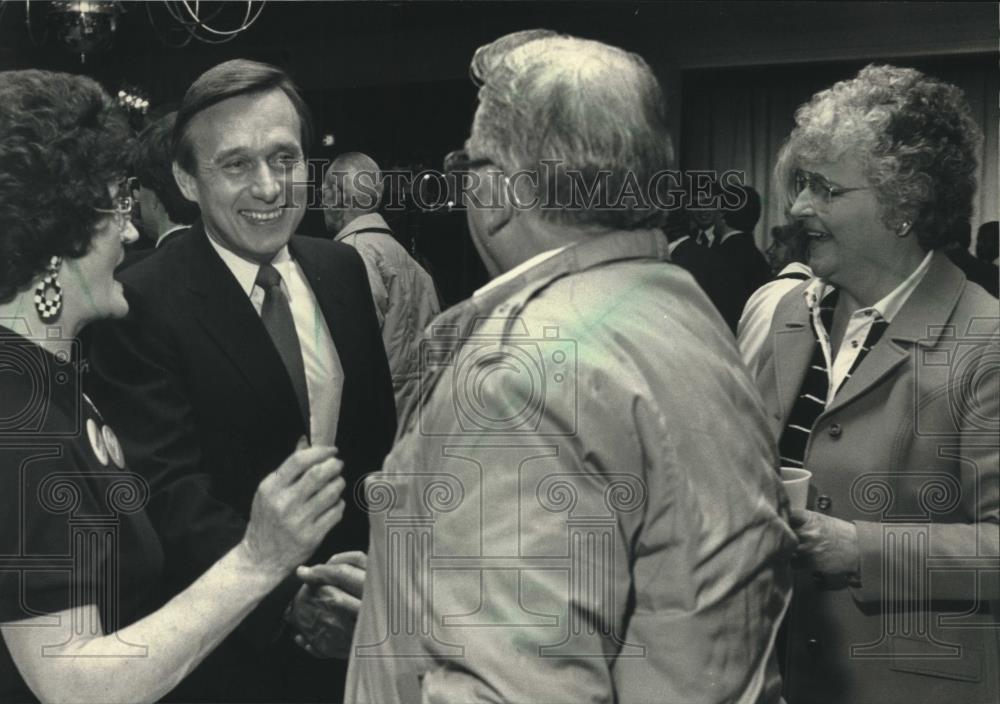
[[[136,237],[129,139],[93,80],[0,73],[0,701],[163,697],[343,513],[334,449],[300,449],[243,540],[158,600],[149,489],[80,391],[75,340],[128,312],[112,274]]]

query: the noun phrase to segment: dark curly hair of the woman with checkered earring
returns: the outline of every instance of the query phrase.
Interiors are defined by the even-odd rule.
[[[58,255],[86,254],[124,175],[127,118],[91,78],[0,72],[0,303]]]

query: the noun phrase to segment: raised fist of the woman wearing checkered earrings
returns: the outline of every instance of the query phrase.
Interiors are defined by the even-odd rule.
[[[240,547],[259,568],[284,575],[312,555],[344,515],[344,463],[335,447],[300,449],[253,497]]]

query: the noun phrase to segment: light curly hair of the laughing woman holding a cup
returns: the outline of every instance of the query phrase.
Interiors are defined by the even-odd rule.
[[[816,93],[795,122],[775,168],[790,200],[796,168],[851,153],[884,224],[912,223],[925,250],[950,243],[972,216],[982,131],[959,88],[912,68],[869,65]]]

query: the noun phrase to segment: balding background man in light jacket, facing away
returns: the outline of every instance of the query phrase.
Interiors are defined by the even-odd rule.
[[[379,215],[382,192],[382,174],[374,159],[360,152],[341,154],[323,181],[323,218],[334,240],[354,247],[365,262],[396,411],[402,413],[418,389],[421,333],[441,306],[430,275]]]

